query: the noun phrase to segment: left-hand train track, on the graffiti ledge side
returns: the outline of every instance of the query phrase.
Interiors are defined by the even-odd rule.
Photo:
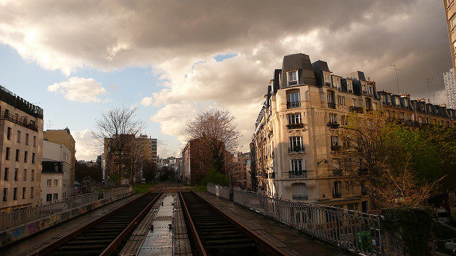
[[[110,213],[90,221],[34,255],[113,255],[160,198],[155,188]]]

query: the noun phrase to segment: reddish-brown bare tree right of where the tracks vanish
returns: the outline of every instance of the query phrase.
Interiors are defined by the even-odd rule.
[[[198,141],[197,156],[205,171],[213,169],[223,172],[229,169],[229,151],[237,149],[239,132],[235,117],[228,110],[202,112],[187,124],[187,139]]]

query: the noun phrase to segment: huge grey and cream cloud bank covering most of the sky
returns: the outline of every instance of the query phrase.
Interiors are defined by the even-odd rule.
[[[43,68],[71,75],[83,68],[152,67],[161,87],[140,103],[158,107],[152,121],[181,141],[185,122],[212,106],[236,115],[246,148],[274,68],[291,53],[326,60],[336,75],[363,70],[388,91],[396,90],[390,65],[398,65],[400,91],[415,98],[427,96],[424,78],[434,78],[431,94],[442,90],[442,72],[451,68],[438,1],[198,0],[157,7],[140,0],[47,0],[0,6],[0,43]],[[231,58],[214,58],[224,55]]]

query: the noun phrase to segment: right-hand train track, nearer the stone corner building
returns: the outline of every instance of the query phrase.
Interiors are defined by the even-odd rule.
[[[177,189],[194,255],[285,255],[197,193]]]

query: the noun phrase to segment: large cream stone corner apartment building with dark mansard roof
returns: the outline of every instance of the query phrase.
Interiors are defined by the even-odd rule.
[[[326,62],[311,63],[302,53],[284,57],[265,99],[251,144],[257,186],[273,196],[363,212],[370,209],[368,197],[338,169],[342,142],[337,129],[326,127],[328,122],[344,125],[348,114],[366,110],[418,126],[455,121],[454,110],[410,100],[408,95],[377,92],[363,72],[344,78]]]

